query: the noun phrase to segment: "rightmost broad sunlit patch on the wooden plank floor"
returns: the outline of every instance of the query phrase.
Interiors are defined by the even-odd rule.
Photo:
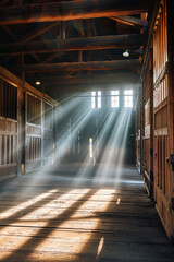
[[[79,200],[82,200],[82,196],[84,195],[80,193],[82,190],[83,189],[76,191]],[[63,222],[59,223],[59,230],[58,228],[57,230],[52,230],[51,235],[49,235],[49,238],[47,237],[44,241],[37,245],[35,250],[80,253],[82,249],[89,241],[92,230],[98,226],[100,221],[100,216],[98,216],[98,214],[108,209],[115,190],[101,189],[97,192],[92,192],[90,190],[89,194],[88,191],[84,191],[84,193],[85,192],[87,194],[82,202],[74,201],[75,206],[74,206],[74,209],[76,209],[75,212],[73,209],[73,214],[71,215],[70,213],[69,216],[65,216]],[[101,239],[99,242],[98,251],[95,249],[95,252],[98,252],[98,255],[102,250],[104,243],[103,240],[104,239]]]

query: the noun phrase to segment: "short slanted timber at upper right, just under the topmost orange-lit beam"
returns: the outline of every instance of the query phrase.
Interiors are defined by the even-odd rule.
[[[147,27],[148,26],[148,21],[141,20],[141,19],[136,19],[129,15],[120,15],[120,16],[112,16],[110,17],[116,22],[127,24],[130,26],[140,26],[140,27]]]

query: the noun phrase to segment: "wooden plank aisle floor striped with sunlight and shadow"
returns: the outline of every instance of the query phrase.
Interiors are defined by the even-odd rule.
[[[117,175],[119,174],[119,175]],[[174,247],[133,167],[61,166],[0,182],[0,261],[172,262]]]

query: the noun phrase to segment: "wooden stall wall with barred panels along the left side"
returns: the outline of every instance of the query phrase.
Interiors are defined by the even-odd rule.
[[[58,103],[0,68],[0,179],[53,162],[53,123]],[[17,80],[17,81],[16,81]],[[39,96],[41,95],[41,96]]]

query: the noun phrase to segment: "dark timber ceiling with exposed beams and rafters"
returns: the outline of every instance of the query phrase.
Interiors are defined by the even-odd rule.
[[[57,97],[136,84],[153,0],[2,0],[0,64]],[[123,57],[128,49],[129,57]]]

